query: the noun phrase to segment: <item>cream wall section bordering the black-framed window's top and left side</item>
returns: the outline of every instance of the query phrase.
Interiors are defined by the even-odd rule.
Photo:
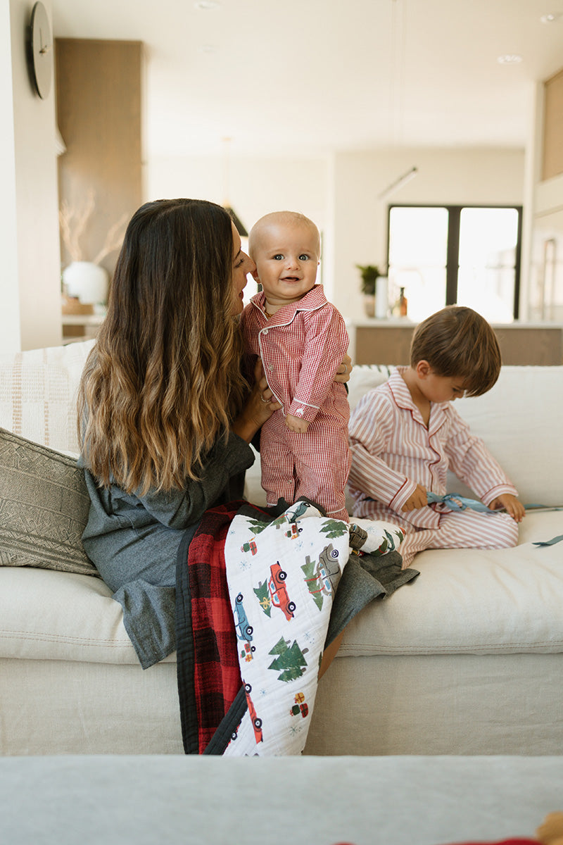
[[[416,176],[377,199],[403,173]],[[524,150],[370,150],[340,153],[333,172],[333,303],[349,319],[363,316],[355,264],[386,268],[387,205],[522,204]],[[327,273],[327,276],[329,274]]]

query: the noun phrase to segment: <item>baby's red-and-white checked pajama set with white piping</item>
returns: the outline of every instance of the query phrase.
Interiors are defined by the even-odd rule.
[[[246,351],[262,358],[268,386],[281,404],[262,427],[262,486],[268,505],[306,497],[328,515],[348,521],[348,394],[334,373],[348,349],[344,319],[315,285],[297,303],[269,319],[263,292],[241,315]],[[306,433],[290,431],[285,416],[309,421]]]

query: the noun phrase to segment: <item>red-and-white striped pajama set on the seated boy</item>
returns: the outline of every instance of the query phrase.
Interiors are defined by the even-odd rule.
[[[485,504],[502,493],[517,495],[452,402],[432,403],[426,428],[400,375],[405,370],[398,367],[386,384],[366,394],[350,417],[349,493],[354,515],[405,529],[399,548],[403,567],[425,548],[515,546],[518,526],[508,514],[452,511],[443,503],[401,510],[417,483],[432,493],[446,493],[448,469]]]

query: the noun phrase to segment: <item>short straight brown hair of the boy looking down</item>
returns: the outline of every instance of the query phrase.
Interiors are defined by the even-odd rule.
[[[436,375],[463,379],[468,396],[490,390],[501,372],[495,332],[472,308],[448,305],[414,330],[410,365],[427,361]]]

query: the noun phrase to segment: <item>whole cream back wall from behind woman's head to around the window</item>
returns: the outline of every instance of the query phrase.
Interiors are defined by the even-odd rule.
[[[412,166],[414,179],[388,199],[384,188]],[[523,150],[369,150],[331,159],[198,157],[150,161],[147,199],[194,196],[235,208],[247,228],[276,209],[300,210],[323,235],[322,281],[329,299],[354,319],[363,314],[355,264],[387,259],[387,204],[522,204]],[[228,194],[228,196],[226,195]]]

